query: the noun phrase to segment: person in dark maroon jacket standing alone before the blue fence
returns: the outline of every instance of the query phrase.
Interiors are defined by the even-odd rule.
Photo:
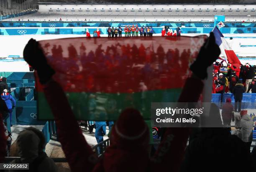
[[[221,116],[222,116],[222,121],[224,126],[229,126],[231,125],[231,120],[235,121],[235,116],[234,116],[234,107],[231,104],[231,99],[227,98],[226,103],[223,104],[222,111],[221,111]]]

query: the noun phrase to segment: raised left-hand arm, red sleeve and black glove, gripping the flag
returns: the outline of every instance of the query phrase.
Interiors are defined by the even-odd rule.
[[[59,141],[72,172],[84,172],[85,168],[88,172],[92,171],[97,157],[87,144],[64,91],[59,83],[51,79],[55,72],[47,64],[38,43],[33,39],[29,40],[23,54],[26,62],[36,69],[44,86],[44,94],[56,121]]]

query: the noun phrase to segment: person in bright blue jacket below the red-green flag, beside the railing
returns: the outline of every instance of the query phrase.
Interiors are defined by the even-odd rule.
[[[95,138],[97,143],[103,142],[103,136],[106,134],[106,121],[95,121]],[[98,147],[98,154],[102,154],[102,147]]]

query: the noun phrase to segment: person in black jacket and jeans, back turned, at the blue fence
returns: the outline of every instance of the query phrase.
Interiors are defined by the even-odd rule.
[[[238,104],[238,112],[241,111],[241,102],[243,99],[244,92],[245,92],[245,88],[243,86],[243,83],[239,80],[233,89],[233,94],[235,99],[235,112],[237,112],[237,104]]]

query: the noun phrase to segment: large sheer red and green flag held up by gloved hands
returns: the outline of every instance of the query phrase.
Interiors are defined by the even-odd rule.
[[[115,120],[122,109],[133,107],[149,120],[151,102],[177,101],[189,65],[206,38],[67,38],[39,43],[77,119]],[[38,119],[54,119],[36,81]]]

